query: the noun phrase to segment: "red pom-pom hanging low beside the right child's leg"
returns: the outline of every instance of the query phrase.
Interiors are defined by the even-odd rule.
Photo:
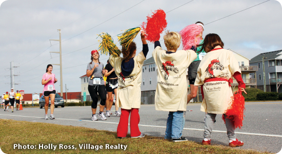
[[[225,111],[226,118],[233,120],[235,128],[243,126],[245,111],[245,98],[241,91],[236,91],[232,97],[231,105]],[[225,118],[223,115],[223,120],[225,123]]]

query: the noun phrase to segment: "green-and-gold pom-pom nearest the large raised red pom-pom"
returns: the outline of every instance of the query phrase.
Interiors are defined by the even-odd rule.
[[[117,36],[120,46],[122,46],[123,48],[126,48],[127,50],[128,46],[130,45],[130,43],[133,41],[133,39],[136,37],[136,35],[139,33],[140,30],[141,30],[140,27],[135,27],[135,28],[126,30],[122,34],[122,36]]]

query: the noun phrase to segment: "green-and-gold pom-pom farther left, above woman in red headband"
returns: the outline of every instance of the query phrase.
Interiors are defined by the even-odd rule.
[[[100,41],[99,45],[99,51],[101,51],[102,54],[108,54],[110,53],[113,57],[118,57],[120,55],[120,50],[116,47],[113,38],[108,33],[102,33],[98,35],[98,37],[102,38],[102,41]]]

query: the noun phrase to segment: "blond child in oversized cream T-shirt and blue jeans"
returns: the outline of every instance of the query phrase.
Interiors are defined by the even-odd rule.
[[[155,41],[152,55],[156,62],[157,87],[155,94],[155,109],[168,111],[165,139],[173,142],[187,141],[182,137],[187,108],[186,69],[196,59],[193,50],[177,50],[181,36],[177,32],[166,32],[164,36],[167,50]]]

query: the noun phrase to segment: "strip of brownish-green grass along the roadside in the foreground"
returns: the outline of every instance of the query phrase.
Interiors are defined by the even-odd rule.
[[[0,119],[0,145],[4,153],[260,153],[254,150],[206,145],[187,141],[173,143],[164,138],[117,139],[112,131],[57,124]],[[128,136],[129,137],[129,136]],[[79,144],[102,145],[103,149],[80,149]],[[14,144],[36,145],[36,149],[13,149]],[[56,149],[38,149],[39,144],[57,145]],[[59,149],[59,144],[76,149]],[[106,144],[127,145],[124,149],[105,149]],[[71,147],[72,148],[72,147]],[[267,153],[267,152],[265,152]]]

